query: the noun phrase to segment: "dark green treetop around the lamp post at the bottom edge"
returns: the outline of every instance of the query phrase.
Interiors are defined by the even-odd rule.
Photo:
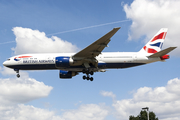
[[[143,110],[139,113],[139,115],[137,115],[137,117],[130,115],[129,120],[148,120],[147,112]],[[159,120],[159,119],[158,117],[156,117],[154,112],[149,112],[149,120]]]

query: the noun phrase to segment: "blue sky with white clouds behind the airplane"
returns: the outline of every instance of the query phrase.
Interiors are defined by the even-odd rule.
[[[161,120],[180,119],[180,1],[0,0],[1,120],[127,120],[149,107]],[[114,27],[104,52],[137,52],[161,28],[166,62],[59,79],[58,70],[3,67],[23,53],[78,52]]]

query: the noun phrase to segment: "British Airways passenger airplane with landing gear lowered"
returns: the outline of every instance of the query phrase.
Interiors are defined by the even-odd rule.
[[[110,38],[120,29],[114,28],[77,53],[44,53],[22,54],[10,57],[3,65],[14,69],[17,77],[19,70],[53,70],[58,69],[59,77],[70,79],[79,73],[83,79],[93,81],[94,72],[105,72],[107,69],[129,68],[169,59],[167,53],[176,47],[162,49],[167,28],[159,32],[138,52],[102,52],[108,46]]]

